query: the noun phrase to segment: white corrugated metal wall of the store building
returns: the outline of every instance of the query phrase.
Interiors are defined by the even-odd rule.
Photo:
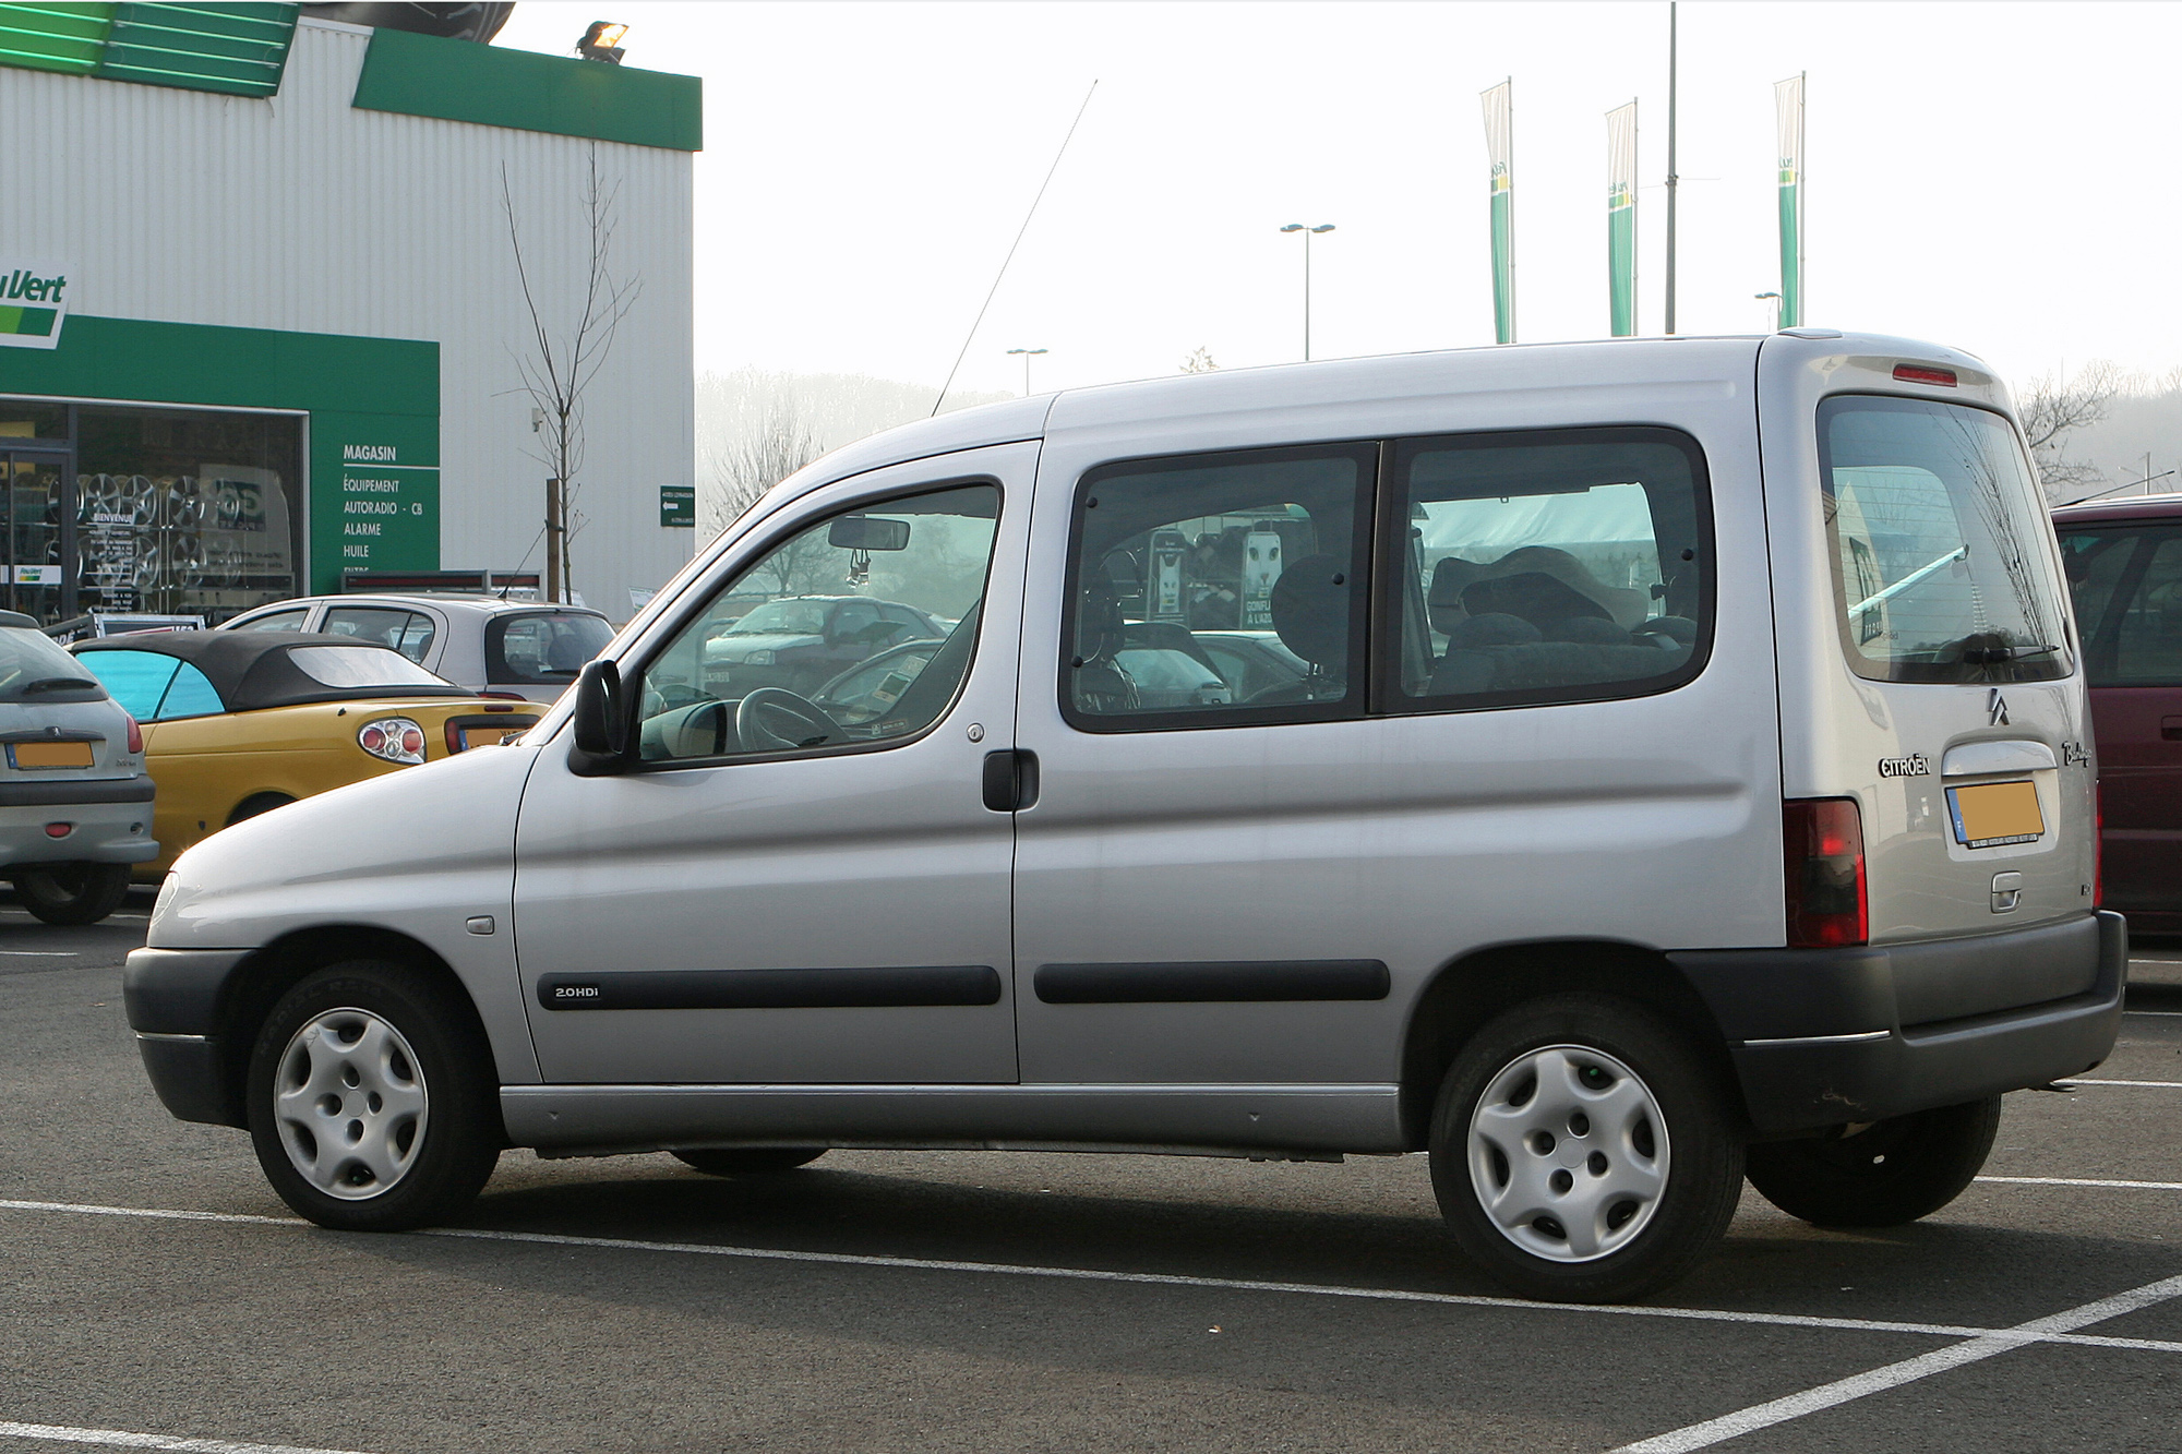
[[[301,22],[277,96],[251,100],[0,70],[0,188],[35,199],[0,242],[70,269],[70,310],[441,343],[441,563],[543,565],[546,465],[515,358],[532,295],[567,332],[596,155],[618,186],[613,266],[642,295],[587,393],[576,589],[613,618],[694,531],[659,485],[696,478],[690,153],[358,111],[369,31]]]

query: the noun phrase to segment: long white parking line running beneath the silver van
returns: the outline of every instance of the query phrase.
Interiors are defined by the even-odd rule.
[[[72,1201],[0,1201],[0,1212],[74,1212],[85,1216],[129,1216],[179,1223],[240,1223],[249,1227],[308,1229],[310,1223],[286,1216],[247,1216],[238,1212],[168,1212],[142,1207],[103,1207]],[[1820,1327],[1831,1332],[1898,1332],[1927,1338],[1999,1338],[2018,1336],[2012,1330],[1970,1327],[1959,1323],[1898,1323],[1881,1319],[1826,1319],[1796,1312],[1735,1312],[1728,1308],[1645,1308],[1626,1303],[1534,1303],[1521,1297],[1477,1297],[1471,1292],[1412,1292],[1407,1288],[1342,1288],[1316,1282],[1257,1282],[1246,1277],[1189,1277],[1183,1273],[1113,1273],[1076,1266],[1028,1266],[1021,1262],[951,1262],[938,1258],[886,1258],[875,1253],[816,1253],[779,1247],[720,1247],[716,1242],[644,1242],[635,1238],[583,1238],[552,1231],[489,1231],[482,1227],[432,1227],[410,1236],[456,1238],[471,1242],[519,1242],[530,1247],[591,1247],[600,1251],[676,1253],[692,1258],[740,1258],[753,1262],[818,1262],[829,1266],[884,1266],[914,1273],[980,1273],[993,1277],[1058,1277],[1067,1282],[1122,1282],[1156,1288],[1211,1288],[1222,1292],[1287,1292],[1303,1297],[1348,1297],[1383,1303],[1436,1303],[1442,1308],[1508,1308],[1516,1312],[1593,1312],[1602,1316],[1669,1319],[1689,1323],[1757,1323],[1763,1327]],[[2101,1338],[2093,1334],[2049,1334],[2029,1338],[2042,1343],[2079,1343],[2086,1347],[2125,1347],[2149,1354],[2182,1354],[2182,1343],[2167,1338]]]

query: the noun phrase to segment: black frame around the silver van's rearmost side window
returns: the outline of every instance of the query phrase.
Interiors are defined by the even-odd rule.
[[[1401,686],[1401,631],[1407,607],[1410,552],[1410,480],[1407,469],[1418,454],[1449,448],[1508,450],[1521,445],[1597,445],[1597,443],[1663,443],[1689,463],[1689,493],[1698,526],[1698,640],[1689,657],[1671,672],[1630,681],[1593,681],[1558,688],[1516,688],[1510,692],[1471,692],[1464,696],[1412,696]],[[1715,541],[1713,474],[1704,445],[1685,428],[1671,424],[1578,424],[1523,430],[1462,430],[1451,434],[1403,434],[1386,443],[1386,485],[1381,487],[1375,574],[1401,581],[1403,592],[1386,589],[1375,598],[1372,616],[1372,714],[1375,716],[1447,716],[1458,712],[1506,712],[1510,707],[1560,707],[1593,701],[1634,701],[1678,692],[1713,659],[1713,637],[1719,620],[1719,550]],[[1650,493],[1650,491],[1647,491]],[[1656,537],[1654,537],[1656,544]]]

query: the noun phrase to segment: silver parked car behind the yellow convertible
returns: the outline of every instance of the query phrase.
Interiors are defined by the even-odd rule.
[[[220,631],[323,631],[391,646],[480,696],[550,703],[613,640],[587,607],[500,596],[299,596],[244,611]]]

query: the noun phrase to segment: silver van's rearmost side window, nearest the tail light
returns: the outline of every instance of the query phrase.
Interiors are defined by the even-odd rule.
[[[1663,428],[1403,441],[1392,703],[1597,701],[1698,675],[1711,640],[1704,456]],[[1390,559],[1394,550],[1390,550]]]

